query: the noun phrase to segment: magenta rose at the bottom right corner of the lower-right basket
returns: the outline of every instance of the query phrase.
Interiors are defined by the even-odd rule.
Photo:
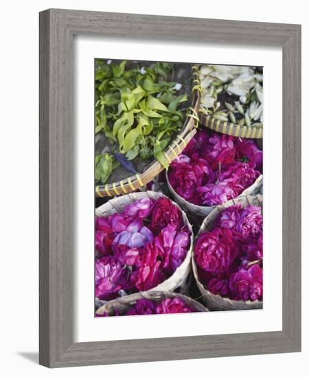
[[[263,299],[263,269],[253,265],[249,269],[240,270],[231,275],[229,287],[233,300],[261,301]]]

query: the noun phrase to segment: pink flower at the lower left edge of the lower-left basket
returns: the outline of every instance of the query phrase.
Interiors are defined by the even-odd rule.
[[[112,256],[103,256],[95,260],[95,297],[111,300],[122,289],[124,269]]]

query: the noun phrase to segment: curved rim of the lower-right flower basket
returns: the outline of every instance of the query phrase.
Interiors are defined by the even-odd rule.
[[[231,201],[229,201],[231,203],[226,202],[225,204],[222,204],[221,206],[216,206],[216,208],[214,208],[214,210],[211,210],[211,212],[209,212],[209,215],[207,215],[205,217],[205,219],[203,220],[203,223],[201,224],[201,227],[198,230],[198,233],[196,234],[195,241],[194,241],[194,246],[196,244],[198,236],[202,232],[204,232],[203,228],[205,227],[205,223],[207,222],[207,219],[209,219],[209,217],[211,217],[211,216],[214,216],[215,211],[218,212],[218,213],[216,213],[216,217],[217,217],[218,214],[220,212],[222,212],[222,210],[224,210],[225,208],[233,206],[234,204],[238,204],[239,202],[242,203],[242,202],[244,202],[245,199],[247,199],[247,205],[251,204],[254,201],[254,199],[258,199],[260,206],[262,206],[262,204],[263,204],[263,195],[262,194],[257,194],[257,195],[245,195],[243,197],[238,197],[238,198],[235,198],[235,199],[231,199]],[[194,257],[194,248],[193,248],[193,252],[192,252],[192,271],[193,271],[196,283],[198,285],[198,289],[200,289],[200,286],[201,286],[205,290],[205,293],[203,293],[201,291],[201,289],[200,289],[201,294],[202,294],[203,297],[205,295],[208,295],[210,297],[215,297],[216,300],[218,300],[218,299],[222,300],[222,303],[226,303],[226,304],[229,304],[229,305],[235,305],[235,306],[240,306],[241,304],[244,304],[244,305],[247,305],[247,306],[256,306],[257,304],[261,304],[261,306],[262,306],[262,304],[263,304],[263,300],[262,301],[260,301],[260,300],[255,300],[255,301],[251,301],[251,300],[247,300],[247,301],[244,301],[244,300],[231,300],[229,297],[222,297],[220,295],[214,295],[214,293],[211,293],[210,291],[208,291],[208,289],[205,288],[204,284],[198,278],[198,269],[197,269],[197,263],[196,263],[196,260],[195,260],[195,257]],[[237,308],[236,308],[236,310],[237,310]]]

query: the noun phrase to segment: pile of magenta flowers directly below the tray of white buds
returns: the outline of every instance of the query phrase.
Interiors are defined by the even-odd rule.
[[[262,151],[253,140],[202,130],[172,162],[168,180],[187,202],[217,206],[238,197],[261,169]]]

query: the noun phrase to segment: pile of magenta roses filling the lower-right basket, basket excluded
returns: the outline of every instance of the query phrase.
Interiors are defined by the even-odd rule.
[[[259,206],[228,207],[198,236],[194,258],[205,288],[231,300],[262,301],[263,217]]]

